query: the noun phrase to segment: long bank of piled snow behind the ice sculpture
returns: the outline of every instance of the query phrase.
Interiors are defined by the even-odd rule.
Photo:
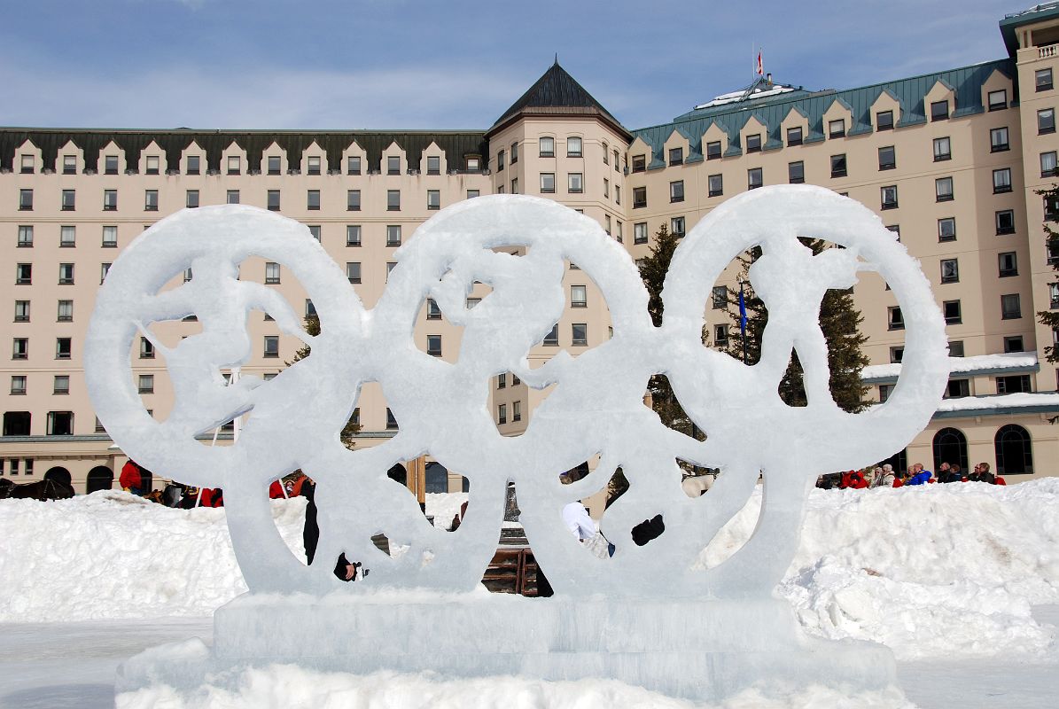
[[[428,495],[428,513],[447,526],[464,499]],[[721,530],[707,566],[742,545],[759,503],[757,492]],[[272,502],[297,553],[304,504]],[[0,538],[0,621],[209,615],[246,588],[223,510],[116,492],[2,500]],[[1038,654],[1054,628],[1030,606],[1059,603],[1059,478],[813,491],[779,593],[808,632],[883,642],[901,659]]]

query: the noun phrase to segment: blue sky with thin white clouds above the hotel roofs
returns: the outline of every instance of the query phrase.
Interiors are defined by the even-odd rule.
[[[629,128],[1006,56],[997,0],[0,0],[0,125],[484,129],[559,63]],[[6,7],[3,7],[6,5]]]

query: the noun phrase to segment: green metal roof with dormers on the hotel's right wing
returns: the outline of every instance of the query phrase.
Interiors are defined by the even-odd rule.
[[[900,128],[927,122],[929,107],[923,106],[923,96],[937,82],[952,87],[956,92],[955,110],[950,113],[952,118],[983,112],[985,108],[982,105],[982,85],[994,71],[1000,71],[1008,78],[1013,79],[1016,76],[1015,60],[1010,58],[999,59],[843,91],[833,89],[815,92],[794,90],[771,99],[701,108],[679,116],[671,123],[633,130],[632,135],[633,138],[642,138],[645,143],[651,146],[651,160],[648,161],[647,167],[652,170],[665,166],[663,145],[674,130],[684,136],[689,143],[690,155],[685,159],[685,162],[702,160],[702,136],[714,124],[729,136],[729,150],[725,153],[725,157],[742,155],[739,131],[747,125],[751,117],[756,118],[762,125],[767,126],[762,149],[779,148],[784,144],[779,124],[787,118],[792,108],[808,119],[808,134],[804,137],[804,142],[813,143],[824,140],[824,113],[834,102],[848,107],[852,114],[852,125],[847,127],[847,136],[872,132],[874,130],[872,127],[872,105],[880,95],[889,93],[900,105],[901,119],[896,125]]]

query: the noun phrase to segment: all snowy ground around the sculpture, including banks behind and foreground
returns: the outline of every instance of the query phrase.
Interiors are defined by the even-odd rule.
[[[464,499],[430,496],[428,513],[446,526]],[[755,494],[705,550],[704,564],[741,546],[759,502]],[[304,501],[274,501],[273,514],[300,551]],[[49,503],[4,500],[0,538],[2,706],[108,706],[121,660],[159,642],[208,639],[207,617],[245,589],[223,510],[169,510],[112,492]],[[814,491],[800,550],[778,590],[808,633],[891,646],[902,660],[907,694],[919,706],[1054,706],[1059,478],[1007,488]],[[275,698],[257,701],[264,696]],[[185,694],[155,688],[122,701],[173,707],[690,706],[616,683],[357,677],[292,667],[247,670]],[[910,705],[895,695],[843,698],[808,688],[775,701],[744,694],[724,706]]]

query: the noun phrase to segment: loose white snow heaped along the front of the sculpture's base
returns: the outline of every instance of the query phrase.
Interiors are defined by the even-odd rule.
[[[847,696],[813,685],[762,694],[750,689],[720,705],[703,705],[611,679],[542,681],[526,677],[443,680],[429,673],[355,675],[273,664],[211,676],[190,690],[154,685],[118,696],[121,709],[257,709],[257,707],[364,707],[367,709],[913,709],[897,689]]]

